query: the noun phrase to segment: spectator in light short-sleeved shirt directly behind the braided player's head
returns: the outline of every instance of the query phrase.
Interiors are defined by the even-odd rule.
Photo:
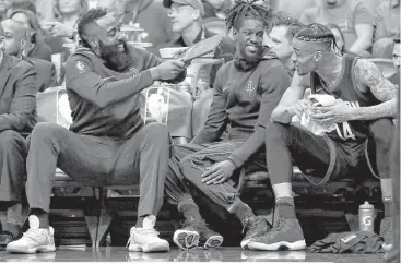
[[[363,1],[320,0],[317,7],[305,10],[299,20],[304,24],[339,25],[344,34],[345,49],[370,57],[374,16]]]

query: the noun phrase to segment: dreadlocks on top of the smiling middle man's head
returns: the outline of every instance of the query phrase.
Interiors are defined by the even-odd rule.
[[[225,25],[229,31],[232,27],[239,29],[241,20],[256,19],[269,26],[269,9],[262,4],[257,4],[258,0],[236,0],[233,8],[225,11]]]

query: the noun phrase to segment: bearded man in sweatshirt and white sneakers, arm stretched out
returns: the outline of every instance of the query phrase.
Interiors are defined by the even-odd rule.
[[[39,123],[33,130],[26,168],[30,229],[7,250],[56,250],[48,212],[51,181],[59,167],[79,181],[139,184],[138,221],[131,228],[129,250],[168,251],[168,242],[158,238],[154,226],[163,204],[172,143],[164,124],[144,125],[139,94],[154,81],[182,81],[186,65],[128,46],[105,9],[86,11],[78,31],[83,47],[66,64],[73,123],[70,130],[54,123]]]

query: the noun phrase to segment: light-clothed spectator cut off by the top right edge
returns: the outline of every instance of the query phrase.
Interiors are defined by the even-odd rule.
[[[400,34],[400,0],[382,2],[377,8],[375,25],[373,55],[375,58],[389,59],[391,58],[392,40]]]

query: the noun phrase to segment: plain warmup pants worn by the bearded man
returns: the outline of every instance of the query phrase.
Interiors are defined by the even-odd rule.
[[[167,127],[151,123],[133,136],[116,140],[79,135],[54,123],[32,132],[26,161],[26,196],[31,208],[49,212],[56,167],[76,181],[140,184],[138,216],[157,215],[170,157]]]

